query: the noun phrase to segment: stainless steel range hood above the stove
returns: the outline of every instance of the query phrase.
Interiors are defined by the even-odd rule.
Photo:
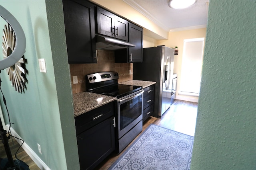
[[[96,49],[118,50],[128,47],[136,47],[136,45],[115,38],[96,35]]]

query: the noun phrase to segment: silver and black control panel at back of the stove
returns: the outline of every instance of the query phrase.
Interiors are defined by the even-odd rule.
[[[118,79],[118,73],[114,71],[110,72],[97,72],[94,74],[88,74],[86,75],[86,78],[88,79],[89,83],[95,83],[95,82],[103,82],[107,80],[114,80]]]

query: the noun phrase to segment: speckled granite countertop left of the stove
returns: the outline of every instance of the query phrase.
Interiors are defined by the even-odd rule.
[[[92,109],[96,109],[104,104],[110,103],[117,98],[96,94],[91,92],[81,92],[73,94],[74,117],[82,115]]]

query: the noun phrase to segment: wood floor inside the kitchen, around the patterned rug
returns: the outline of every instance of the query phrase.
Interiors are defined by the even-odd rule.
[[[197,103],[175,100],[171,107],[162,115],[161,119],[156,117],[149,117],[146,121],[144,121],[142,132],[152,123],[167,129],[184,133],[186,135],[194,136],[196,127],[196,115]],[[137,135],[137,137],[140,136],[140,134]],[[107,170],[137,139],[137,137],[120,154],[110,154],[95,169]]]

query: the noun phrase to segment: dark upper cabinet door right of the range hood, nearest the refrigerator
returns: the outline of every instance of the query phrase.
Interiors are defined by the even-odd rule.
[[[133,23],[129,23],[129,42],[136,45],[129,48],[129,63],[142,62],[143,29]]]

